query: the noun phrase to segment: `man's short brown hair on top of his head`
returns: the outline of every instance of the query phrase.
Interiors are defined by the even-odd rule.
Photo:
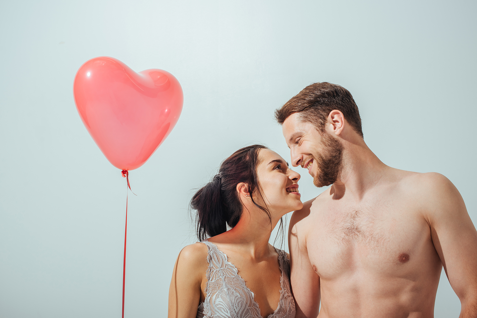
[[[275,110],[275,119],[281,125],[293,113],[301,113],[303,121],[311,122],[324,132],[328,115],[334,109],[341,111],[346,121],[361,137],[361,117],[358,106],[348,89],[328,82],[314,83],[293,96],[280,109]]]

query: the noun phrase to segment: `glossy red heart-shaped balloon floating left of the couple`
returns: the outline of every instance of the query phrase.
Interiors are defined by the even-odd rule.
[[[141,167],[179,119],[184,96],[165,70],[131,70],[99,57],[74,78],[74,101],[83,124],[104,156],[121,170]]]

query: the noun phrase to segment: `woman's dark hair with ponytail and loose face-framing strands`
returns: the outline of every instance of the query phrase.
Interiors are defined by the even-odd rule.
[[[227,225],[233,228],[239,222],[242,203],[237,184],[245,182],[250,193],[258,191],[261,196],[257,178],[261,149],[268,148],[252,145],[235,151],[222,162],[218,174],[192,197],[190,207],[197,210],[197,238],[200,241],[223,233],[227,231]],[[257,204],[252,196],[250,198],[259,209],[267,213],[271,225],[271,215],[267,207]],[[280,231],[283,240],[283,219],[280,219]]]

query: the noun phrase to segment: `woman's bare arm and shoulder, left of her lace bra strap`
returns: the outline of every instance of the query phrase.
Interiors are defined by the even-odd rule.
[[[206,258],[207,246],[202,243],[180,251],[169,287],[168,318],[196,318],[207,270]]]

